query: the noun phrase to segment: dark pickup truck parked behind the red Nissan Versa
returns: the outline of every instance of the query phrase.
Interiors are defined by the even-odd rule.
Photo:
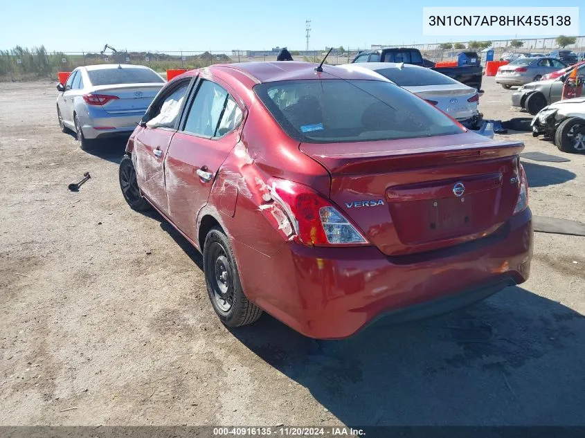
[[[466,65],[460,67],[435,67],[435,63],[425,60],[417,48],[381,48],[379,50],[363,51],[358,53],[352,62],[404,62],[428,67],[452,77],[454,80],[478,91],[481,89],[483,68],[480,65]]]

